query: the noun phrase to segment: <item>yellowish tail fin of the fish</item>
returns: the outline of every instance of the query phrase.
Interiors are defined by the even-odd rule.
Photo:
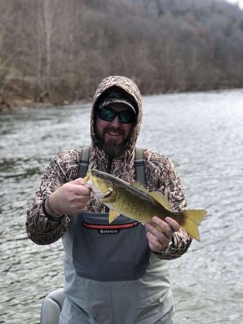
[[[198,242],[200,241],[198,225],[206,215],[206,210],[187,210],[183,213],[183,224],[181,224],[181,227]]]

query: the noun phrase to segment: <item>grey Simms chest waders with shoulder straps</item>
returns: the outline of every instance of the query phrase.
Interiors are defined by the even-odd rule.
[[[86,176],[89,147],[78,178]],[[145,184],[143,150],[136,148],[136,180]],[[151,252],[146,228],[120,215],[83,212],[69,216],[65,250],[66,299],[59,324],[172,324],[169,262]]]

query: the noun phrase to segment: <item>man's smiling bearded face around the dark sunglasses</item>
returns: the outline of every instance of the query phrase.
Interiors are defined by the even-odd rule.
[[[105,108],[116,112],[132,110],[121,103],[110,104]],[[102,148],[109,156],[120,156],[124,153],[125,144],[132,128],[133,123],[121,123],[118,115],[113,121],[106,122],[100,119],[98,112],[96,112],[95,132]]]

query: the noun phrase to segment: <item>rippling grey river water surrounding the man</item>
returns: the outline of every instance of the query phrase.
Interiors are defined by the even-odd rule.
[[[144,96],[138,146],[175,163],[201,242],[171,261],[178,324],[243,323],[243,90]],[[81,109],[82,108],[82,109]],[[25,215],[51,158],[90,144],[90,103],[0,114],[0,323],[38,324],[63,287],[61,241],[38,246]],[[148,323],[149,324],[149,323]]]

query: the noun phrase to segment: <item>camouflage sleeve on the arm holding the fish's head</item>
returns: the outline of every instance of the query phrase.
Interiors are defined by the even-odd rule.
[[[64,215],[60,220],[51,220],[45,216],[43,201],[64,183],[76,179],[78,152],[62,153],[52,159],[47,167],[41,185],[36,192],[35,200],[27,211],[26,233],[39,245],[57,241],[68,229],[69,217]]]

